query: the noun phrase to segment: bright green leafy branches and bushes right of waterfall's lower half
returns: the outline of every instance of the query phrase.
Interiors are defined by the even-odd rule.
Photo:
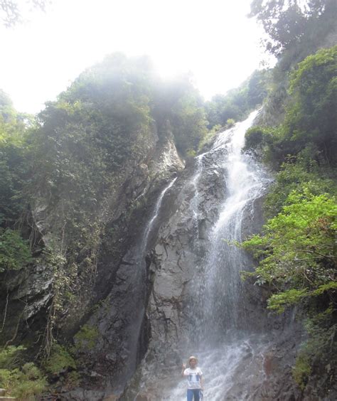
[[[304,390],[311,375],[323,367],[328,367],[329,380],[336,373],[336,357],[331,355],[337,355],[333,341],[337,206],[333,181],[321,178],[315,165],[310,164],[308,171],[303,159],[296,161],[284,164],[267,198],[268,215],[274,217],[267,220],[261,235],[242,244],[259,260],[255,272],[243,276],[270,286],[268,309],[282,313],[300,305],[309,314],[308,339],[293,367],[294,380]]]

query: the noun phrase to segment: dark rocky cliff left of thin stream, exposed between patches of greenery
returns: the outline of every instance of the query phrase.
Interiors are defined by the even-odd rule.
[[[82,375],[87,375],[94,385],[103,375],[112,380],[117,377],[114,383],[120,380],[123,384],[129,378],[130,373],[127,372],[132,372],[138,361],[134,357],[137,345],[131,348],[137,344],[137,339],[132,336],[132,322],[139,310],[133,309],[137,307],[144,287],[139,282],[139,260],[133,259],[139,258],[135,249],[139,248],[139,239],[151,215],[152,203],[166,183],[183,169],[169,122],[159,128],[154,124],[141,146],[139,157],[133,157],[124,164],[100,205],[92,212],[85,211],[99,214],[101,240],[96,270],[76,278],[79,281],[77,300],[73,304],[69,302],[68,309],[62,311],[58,321],[58,338],[64,341],[72,338],[83,324],[92,324],[95,330],[96,327],[99,329],[97,346],[100,352],[97,353],[95,348],[82,353]],[[65,247],[64,238],[58,235],[56,227],[65,213],[62,200],[69,191],[70,188],[63,188],[56,204],[46,193],[36,197],[29,215],[36,255],[50,244]],[[40,264],[31,264],[26,269],[6,272],[1,276],[4,316],[1,336],[9,339],[9,344],[26,343],[31,346],[35,341],[38,343],[43,337],[44,327],[48,325],[55,298],[55,264],[50,261],[43,263],[41,259]],[[126,336],[129,334],[132,338],[128,339]],[[31,346],[32,352],[33,348]],[[138,358],[141,358],[142,351],[139,352]]]

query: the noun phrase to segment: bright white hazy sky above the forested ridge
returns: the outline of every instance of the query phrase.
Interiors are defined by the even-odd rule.
[[[24,1],[24,0],[22,0]],[[163,77],[192,71],[208,99],[259,68],[262,34],[251,0],[53,0],[15,28],[0,28],[0,88],[38,112],[105,55],[150,55]]]

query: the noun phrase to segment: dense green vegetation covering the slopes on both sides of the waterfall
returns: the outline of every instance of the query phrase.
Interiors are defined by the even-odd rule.
[[[85,70],[36,117],[16,112],[0,92],[0,274],[41,261],[53,266],[55,297],[35,362],[29,343],[5,338],[0,318],[0,386],[23,400],[42,392],[53,375],[68,370],[77,383],[76,348],[95,341],[83,326],[73,348],[57,342],[55,326],[65,304],[95,274],[102,235],[102,204],[129,159],[140,160],[169,122],[183,158],[203,149],[221,127],[264,104],[268,113],[246,134],[246,151],[274,170],[260,235],[243,243],[259,266],[257,284],[272,291],[268,308],[298,306],[308,338],[294,366],[304,390],[324,369],[328,388],[336,374],[336,61],[337,47],[323,46],[333,31],[333,1],[252,1],[253,17],[277,55],[275,68],[255,71],[226,95],[204,102],[188,76],[161,80],[148,58],[109,55]],[[323,46],[323,48],[320,48]],[[320,48],[320,49],[319,49]],[[59,210],[48,244],[36,235],[31,207],[48,198]],[[16,344],[16,346],[14,346]],[[88,345],[89,344],[89,345]]]

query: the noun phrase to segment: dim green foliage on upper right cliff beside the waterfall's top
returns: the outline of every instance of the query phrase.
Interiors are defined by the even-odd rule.
[[[247,131],[246,149],[262,149],[264,161],[279,168],[288,155],[306,152],[319,164],[337,164],[337,46],[309,55],[291,74],[289,101],[279,127]],[[305,150],[306,149],[306,150]]]

